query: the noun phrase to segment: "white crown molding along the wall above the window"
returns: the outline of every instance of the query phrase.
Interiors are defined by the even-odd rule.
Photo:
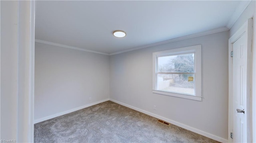
[[[148,44],[148,45],[144,45],[144,46],[135,47],[135,48],[124,50],[124,51],[111,53],[109,55],[116,55],[116,54],[120,54],[120,53],[126,53],[126,52],[130,52],[130,51],[138,50],[138,49],[154,47],[154,46],[158,46],[158,45],[163,45],[163,44],[172,43],[172,42],[181,41],[181,40],[186,40],[186,39],[195,38],[195,37],[200,37],[200,36],[204,36],[204,35],[220,33],[220,32],[228,31],[228,30],[229,29],[227,27],[220,27],[220,28],[216,28],[216,29],[212,29],[212,30],[208,30],[208,31],[200,32],[200,33],[186,35],[186,36],[182,36],[182,37],[178,37],[178,38],[173,38],[173,39],[169,39],[169,40],[165,40],[165,41],[161,41],[161,42],[156,42],[156,43],[152,43],[152,44]]]

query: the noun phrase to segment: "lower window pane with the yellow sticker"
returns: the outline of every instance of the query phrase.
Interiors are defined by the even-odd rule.
[[[194,74],[158,74],[157,90],[195,95]]]

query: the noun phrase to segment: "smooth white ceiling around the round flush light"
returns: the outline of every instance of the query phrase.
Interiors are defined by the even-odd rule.
[[[111,54],[216,28],[230,29],[244,10],[242,7],[247,6],[244,3],[36,1],[35,36]],[[126,31],[126,37],[114,37],[115,30]]]

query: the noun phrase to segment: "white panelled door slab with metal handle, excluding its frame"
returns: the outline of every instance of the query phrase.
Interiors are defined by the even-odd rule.
[[[247,37],[242,35],[233,43],[233,141],[247,142],[246,73]]]

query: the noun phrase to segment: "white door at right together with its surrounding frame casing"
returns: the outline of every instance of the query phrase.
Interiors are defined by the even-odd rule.
[[[229,50],[233,51],[229,58],[229,130],[234,143],[251,141],[251,39],[252,19],[229,39]]]

